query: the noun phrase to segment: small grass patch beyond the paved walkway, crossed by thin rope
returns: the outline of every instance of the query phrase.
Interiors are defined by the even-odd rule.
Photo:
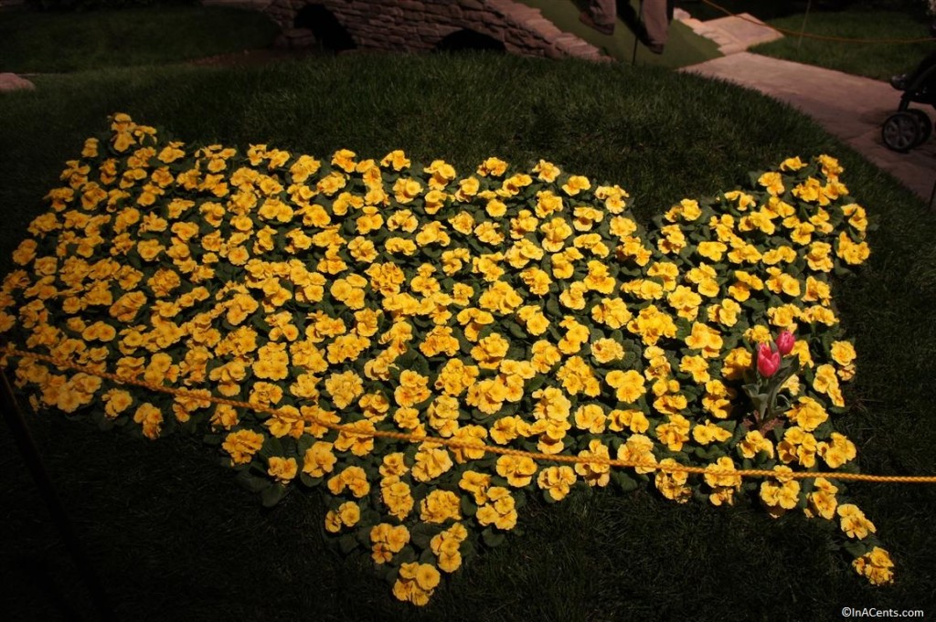
[[[770,25],[791,31],[804,31],[803,15],[770,20]],[[929,23],[905,11],[849,10],[813,11],[807,16],[805,31],[813,35],[857,39],[903,40],[929,36]],[[852,43],[825,41],[787,35],[751,51],[807,65],[836,69],[856,76],[887,80],[894,74],[911,71],[931,51],[933,41],[921,43]]]

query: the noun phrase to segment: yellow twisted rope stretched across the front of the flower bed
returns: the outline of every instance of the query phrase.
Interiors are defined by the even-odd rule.
[[[47,354],[37,354],[28,351],[23,351],[16,349],[12,346],[7,346],[6,353],[7,356],[21,356],[22,358],[33,358],[39,361],[45,361],[54,365],[60,369],[72,369],[74,371],[79,371],[81,373],[86,373],[88,375],[97,376],[98,378],[103,378],[110,380],[114,383],[119,384],[132,384],[135,386],[140,386],[150,391],[157,393],[166,393],[168,395],[175,396],[177,398],[190,398],[202,401],[210,401],[214,404],[222,404],[226,406],[231,406],[234,408],[242,408],[246,410],[252,410],[255,412],[266,412],[271,415],[275,415],[277,412],[280,412],[279,409],[272,408],[271,406],[263,406],[260,404],[252,404],[250,402],[245,402],[237,399],[227,399],[227,398],[216,398],[210,395],[200,394],[197,391],[192,391],[188,389],[178,389],[171,386],[164,386],[161,384],[148,383],[146,381],[137,380],[135,378],[123,378],[117,374],[113,374],[106,371],[99,371],[87,366],[79,365],[77,363],[72,363],[71,361],[66,361],[62,359],[49,356]],[[888,484],[936,484],[936,476],[927,476],[927,475],[868,475],[865,473],[842,473],[842,472],[822,472],[822,471],[792,471],[789,473],[779,473],[775,470],[764,470],[764,469],[742,469],[742,470],[714,470],[705,467],[691,467],[688,465],[681,464],[670,464],[670,465],[661,465],[657,463],[643,463],[643,462],[630,462],[627,460],[616,460],[612,458],[604,458],[600,456],[593,457],[582,457],[582,456],[560,456],[560,455],[549,455],[541,454],[538,452],[528,452],[519,449],[510,449],[507,447],[498,447],[496,445],[489,445],[486,443],[479,442],[469,442],[469,441],[459,441],[457,439],[444,439],[440,437],[431,437],[423,436],[417,434],[407,434],[404,432],[390,432],[387,430],[360,430],[355,427],[345,426],[341,424],[333,424],[328,421],[315,421],[315,424],[327,427],[329,429],[337,430],[339,432],[344,432],[346,434],[353,434],[355,436],[370,436],[370,437],[379,437],[386,439],[393,439],[397,441],[409,441],[409,442],[427,442],[432,444],[445,445],[447,447],[453,447],[456,449],[464,450],[478,450],[490,454],[498,454],[502,456],[519,456],[519,457],[529,457],[538,461],[548,461],[548,462],[563,462],[563,463],[574,463],[574,464],[598,464],[598,465],[607,465],[608,467],[618,467],[625,469],[650,469],[650,470],[663,470],[665,472],[683,472],[683,473],[694,473],[701,475],[712,475],[715,477],[718,476],[739,476],[739,477],[769,477],[775,479],[812,479],[816,477],[824,477],[826,479],[838,479],[838,480],[852,480],[860,482],[879,482],[879,483],[888,483]]]

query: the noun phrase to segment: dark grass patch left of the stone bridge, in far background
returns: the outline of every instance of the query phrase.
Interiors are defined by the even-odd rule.
[[[71,72],[158,65],[268,48],[279,27],[229,7],[154,6],[123,10],[0,11],[0,71]]]

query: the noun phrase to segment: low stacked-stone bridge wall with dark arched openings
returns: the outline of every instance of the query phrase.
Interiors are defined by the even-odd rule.
[[[503,43],[505,51],[514,54],[610,60],[590,43],[559,30],[538,9],[514,0],[272,0],[262,4],[266,5],[262,10],[284,31],[296,25],[302,7],[325,7],[361,50],[431,51],[446,36],[470,30]]]

